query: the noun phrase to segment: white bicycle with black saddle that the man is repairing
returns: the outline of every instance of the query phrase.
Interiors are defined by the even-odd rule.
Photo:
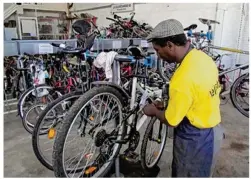
[[[78,177],[103,177],[110,170],[114,159],[119,154],[122,144],[129,143],[129,147],[125,150],[125,154],[126,156],[133,156],[133,151],[139,144],[140,135],[138,130],[147,119],[147,116],[142,114],[141,105],[144,105],[146,100],[150,102],[151,99],[153,100],[155,97],[160,97],[162,89],[156,91],[156,89],[148,88],[148,90],[146,90],[144,87],[141,87],[141,84],[138,83],[138,78],[146,79],[146,76],[138,74],[138,67],[140,63],[139,60],[143,59],[145,54],[143,54],[142,50],[137,47],[132,47],[130,51],[132,52],[132,57],[118,55],[115,57],[115,60],[119,62],[136,60],[136,70],[134,75],[132,75],[133,79],[131,80],[132,97],[130,98],[128,92],[116,84],[109,82],[92,83],[95,87],[82,95],[73,104],[65,117],[67,120],[63,121],[62,127],[56,135],[53,147],[53,170],[56,177],[69,176],[71,173],[75,175],[76,172],[80,173]],[[163,84],[160,86],[163,86]],[[137,96],[138,94],[136,93],[136,89],[143,92],[142,98]],[[90,105],[90,101],[92,100],[96,102],[93,102],[92,105]],[[103,102],[103,100],[106,102]],[[96,110],[94,110],[96,113],[93,114],[92,118],[87,118],[85,120],[80,119],[80,121],[75,124],[78,119],[77,116],[87,106],[89,108],[96,108]],[[107,107],[109,107],[109,109]],[[101,116],[102,119],[100,119]],[[138,118],[139,120],[137,120]],[[144,135],[145,142],[143,143],[144,146],[142,147],[141,153],[141,158],[143,158],[143,160],[141,161],[143,163],[142,167],[144,167],[145,170],[149,170],[157,165],[166,142],[167,126],[164,124],[161,124],[161,127],[159,126],[158,128],[157,139],[151,136],[152,130],[149,128],[153,127],[155,122],[154,120],[156,121],[156,119],[151,120],[148,125],[148,129],[146,130],[147,132]],[[109,122],[111,122],[109,127],[104,129]],[[90,125],[90,127],[87,125]],[[82,152],[77,155],[75,155],[76,148],[74,148],[75,150],[71,148],[70,156],[66,156],[65,144],[69,142],[67,142],[67,139],[72,136],[69,134],[72,127],[76,127],[76,131],[79,132],[78,136],[81,139],[82,137],[85,137],[85,139],[89,139],[89,143],[92,139],[94,139],[94,144],[92,144],[91,148],[89,147],[85,150],[81,149]],[[75,134],[75,132],[73,132],[73,134]],[[74,137],[73,139],[75,142],[77,137]],[[150,140],[148,141],[148,139]],[[86,146],[81,145],[81,141],[83,142],[83,139],[76,142],[78,144],[78,148]],[[146,163],[147,153],[145,149],[147,149],[146,145],[151,141],[161,144],[161,147],[159,151],[153,152],[155,156],[152,158],[152,163],[150,163],[151,161]],[[73,144],[69,147],[73,147]],[[95,154],[94,151],[93,153],[93,147],[95,147],[95,151],[98,149],[100,152]],[[77,156],[80,156],[80,161],[73,161],[73,159],[77,158]],[[78,167],[83,158],[87,161],[85,167]],[[64,159],[67,159],[69,166],[65,166],[66,163],[64,163]],[[90,162],[90,160],[92,160],[92,162]],[[90,164],[88,165],[89,162]],[[73,164],[76,164],[77,166],[71,166]]]

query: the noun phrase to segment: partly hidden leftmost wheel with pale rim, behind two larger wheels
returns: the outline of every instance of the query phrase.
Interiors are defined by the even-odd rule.
[[[43,97],[39,97],[36,95],[37,93],[40,92],[46,92],[45,95],[43,95]],[[41,93],[40,93],[41,94]],[[50,99],[46,102],[50,102],[51,99],[53,99],[52,95],[56,94],[57,98],[58,96],[62,96],[60,92],[58,92],[57,90],[55,90],[55,88],[51,87],[51,86],[47,86],[47,85],[38,85],[36,87],[31,87],[28,90],[26,90],[19,98],[18,100],[18,105],[17,105],[17,109],[18,109],[18,114],[21,117],[21,119],[24,118],[25,113],[27,112],[27,109],[29,109],[32,105],[40,103],[43,101],[43,103],[46,101],[47,97],[50,97]]]

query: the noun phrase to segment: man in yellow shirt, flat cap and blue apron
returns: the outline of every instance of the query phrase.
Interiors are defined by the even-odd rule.
[[[159,23],[147,40],[161,59],[179,64],[170,81],[167,109],[158,110],[153,104],[143,109],[175,127],[172,177],[210,177],[223,136],[217,66],[191,47],[177,20]]]

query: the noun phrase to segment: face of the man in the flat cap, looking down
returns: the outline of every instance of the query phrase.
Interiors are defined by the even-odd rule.
[[[153,48],[155,49],[155,51],[157,52],[157,55],[160,59],[168,62],[168,63],[173,63],[175,62],[175,57],[174,57],[174,53],[173,53],[173,47],[170,46],[165,46],[165,47],[161,47],[155,43],[153,43]]]

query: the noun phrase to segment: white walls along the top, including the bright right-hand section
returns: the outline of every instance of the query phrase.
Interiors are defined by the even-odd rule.
[[[106,6],[105,8],[100,8]],[[112,17],[109,4],[77,3],[73,5],[73,11],[80,14],[90,13],[96,17],[98,26],[108,26],[111,21],[106,17]],[[175,18],[179,20],[184,27],[196,23],[199,30],[207,30],[207,26],[200,23],[198,18],[207,18],[217,20],[220,24],[213,26],[215,29],[215,45],[237,48],[239,36],[241,3],[136,3],[134,4],[135,19],[140,22],[147,22],[153,27],[162,20]],[[94,10],[84,10],[99,7]],[[122,17],[130,16],[130,12],[118,13]]]

